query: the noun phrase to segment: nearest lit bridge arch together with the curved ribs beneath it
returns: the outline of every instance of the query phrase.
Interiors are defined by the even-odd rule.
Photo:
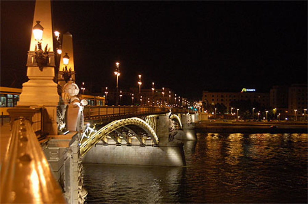
[[[144,144],[142,138],[140,138],[140,136],[136,134],[135,131],[132,130],[132,128],[129,128],[132,125],[143,129],[151,137],[154,145],[158,145],[159,143],[158,137],[156,135],[156,132],[151,127],[151,125],[149,125],[145,120],[133,117],[133,118],[115,120],[105,125],[104,127],[100,128],[97,132],[90,135],[88,139],[84,140],[81,143],[80,154],[82,156],[85,155],[93,146],[95,146],[96,143],[106,138],[108,134],[110,134],[111,138],[117,142],[117,139],[114,136],[112,136],[111,134],[112,132],[115,132],[116,134],[122,136],[124,140],[127,143],[129,143],[129,139],[126,137],[126,135],[123,135],[121,131],[119,131],[120,128],[127,129],[133,136],[136,136],[140,144]]]

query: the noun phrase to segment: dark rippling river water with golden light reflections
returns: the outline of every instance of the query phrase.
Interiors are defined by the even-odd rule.
[[[84,164],[86,202],[307,203],[307,134],[197,136],[186,167]]]

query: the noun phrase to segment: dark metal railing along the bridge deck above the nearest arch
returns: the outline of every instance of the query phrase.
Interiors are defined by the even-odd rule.
[[[83,110],[83,116],[90,120],[100,117],[159,114],[168,111],[168,108],[152,106],[86,106]]]

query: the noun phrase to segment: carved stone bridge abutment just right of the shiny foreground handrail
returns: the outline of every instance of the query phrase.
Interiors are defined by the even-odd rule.
[[[82,187],[82,160],[76,140],[78,135],[61,135],[60,137],[50,135],[50,141],[44,153],[55,179],[62,187],[66,202],[83,203],[87,192]]]

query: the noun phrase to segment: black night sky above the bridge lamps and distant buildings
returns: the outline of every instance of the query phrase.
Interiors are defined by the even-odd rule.
[[[54,1],[54,29],[74,40],[76,82],[100,91],[170,87],[201,98],[202,90],[269,92],[307,83],[307,1]],[[1,1],[1,85],[26,77],[34,2]],[[88,86],[88,87],[87,87]]]

